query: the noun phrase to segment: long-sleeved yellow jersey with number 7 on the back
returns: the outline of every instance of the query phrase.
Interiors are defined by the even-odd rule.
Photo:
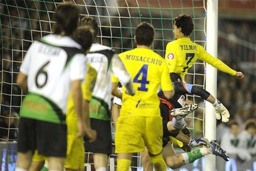
[[[187,70],[192,67],[197,59],[203,60],[229,75],[236,75],[235,70],[228,67],[218,58],[208,54],[203,46],[193,43],[190,38],[179,38],[168,43],[164,59],[168,63],[169,73],[179,73],[182,79],[184,79]]]

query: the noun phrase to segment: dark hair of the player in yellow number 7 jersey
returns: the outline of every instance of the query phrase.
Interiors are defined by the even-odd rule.
[[[174,22],[177,28],[181,28],[181,32],[184,34],[184,36],[189,36],[194,30],[192,17],[189,15],[180,14],[174,19]]]

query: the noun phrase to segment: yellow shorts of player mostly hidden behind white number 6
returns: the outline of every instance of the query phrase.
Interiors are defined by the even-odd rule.
[[[83,169],[85,163],[85,148],[83,138],[77,138],[75,134],[67,135],[67,156],[64,167],[66,169]]]

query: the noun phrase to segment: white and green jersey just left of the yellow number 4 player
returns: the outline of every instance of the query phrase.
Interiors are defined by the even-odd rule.
[[[113,49],[93,43],[87,54],[87,62],[97,71],[95,88],[90,101],[90,118],[110,120],[111,107],[111,59]]]

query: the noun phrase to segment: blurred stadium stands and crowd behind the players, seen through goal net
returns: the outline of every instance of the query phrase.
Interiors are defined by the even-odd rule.
[[[17,140],[19,111],[22,92],[15,84],[22,59],[30,44],[41,36],[51,33],[53,13],[56,5],[62,1],[0,1],[0,164],[1,170],[14,170],[15,140]],[[117,52],[134,48],[133,35],[137,24],[150,22],[156,28],[156,40],[153,49],[164,56],[164,48],[173,40],[173,19],[178,14],[192,15],[195,30],[191,39],[205,46],[205,7],[207,0],[74,0],[80,6],[82,16],[90,15],[98,19],[100,25],[99,41],[113,47]],[[209,34],[209,33],[207,33]],[[236,80],[225,73],[218,72],[218,96],[229,109],[231,119],[239,123],[244,131],[245,122],[256,118],[256,1],[226,0],[219,1],[218,19],[218,58],[233,69],[245,73],[244,80]],[[205,64],[198,61],[190,69],[186,81],[205,85]],[[190,97],[200,103],[200,109],[187,118],[194,137],[203,136],[203,101]],[[208,121],[209,122],[209,121]],[[220,141],[227,124],[218,122],[217,139]],[[256,130],[256,129],[255,129]],[[114,129],[113,129],[114,131]],[[252,137],[251,148],[239,148],[248,151],[252,159],[245,161],[237,154],[234,160],[224,164],[217,160],[218,170],[256,170],[256,135]],[[113,144],[114,148],[114,144]],[[238,148],[237,148],[238,150]],[[110,156],[110,170],[114,169],[116,155]],[[87,161],[90,154],[87,155]],[[189,165],[187,170],[203,170],[203,160]],[[140,154],[134,154],[132,170],[141,166]],[[92,167],[93,168],[93,167]]]

